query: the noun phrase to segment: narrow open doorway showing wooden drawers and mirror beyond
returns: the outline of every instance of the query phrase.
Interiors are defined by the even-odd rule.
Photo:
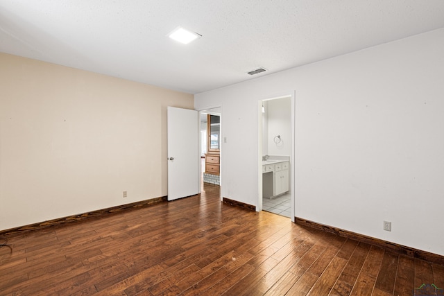
[[[221,185],[221,108],[200,112],[202,182]]]

